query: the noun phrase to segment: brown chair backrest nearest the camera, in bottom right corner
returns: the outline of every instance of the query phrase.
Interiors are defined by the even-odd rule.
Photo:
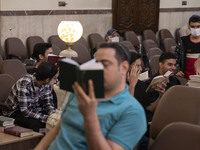
[[[162,129],[149,150],[199,150],[200,126],[174,122]]]

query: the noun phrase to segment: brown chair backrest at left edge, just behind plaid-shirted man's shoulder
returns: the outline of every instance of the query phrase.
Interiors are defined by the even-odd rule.
[[[11,75],[15,81],[23,77],[27,71],[25,65],[18,59],[6,59],[2,62],[1,73]]]

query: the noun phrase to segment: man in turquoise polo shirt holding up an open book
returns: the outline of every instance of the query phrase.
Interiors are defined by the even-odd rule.
[[[60,121],[36,150],[132,150],[146,131],[146,120],[126,85],[129,60],[123,45],[102,44],[96,61],[104,65],[105,98],[95,98],[92,80],[88,81],[88,95],[75,82],[75,94],[70,95]]]

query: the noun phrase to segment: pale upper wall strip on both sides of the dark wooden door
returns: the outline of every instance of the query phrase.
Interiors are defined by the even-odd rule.
[[[68,3],[66,7],[58,7],[58,1]],[[200,7],[199,0],[160,0],[160,8]],[[0,10],[59,10],[59,9],[111,9],[112,0],[0,0]]]

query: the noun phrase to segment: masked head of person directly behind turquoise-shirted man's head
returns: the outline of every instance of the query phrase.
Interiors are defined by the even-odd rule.
[[[110,29],[106,33],[105,39],[108,43],[119,42],[119,37],[120,37],[120,35],[116,29]]]

